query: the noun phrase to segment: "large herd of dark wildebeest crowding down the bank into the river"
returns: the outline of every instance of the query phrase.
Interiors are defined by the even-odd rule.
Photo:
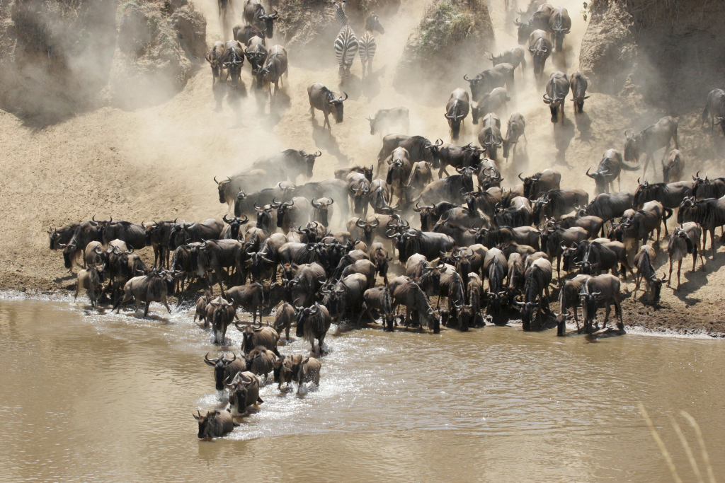
[[[247,19],[249,5],[257,6],[253,7],[257,14]],[[336,5],[345,30],[343,8]],[[247,1],[248,21],[235,29],[238,40],[226,43],[225,49],[215,45],[210,53],[215,83],[239,79],[244,56],[235,52],[243,30],[260,34],[245,43],[244,51],[257,79],[264,81],[274,72],[281,75],[276,62],[284,49],[263,49],[265,33],[271,37],[274,15],[265,14],[256,0]],[[529,20],[516,21],[519,40],[529,39],[538,76],[552,43],[561,49],[571,20],[566,9],[541,1],[532,2],[527,16]],[[374,20],[378,22],[377,17]],[[379,22],[378,27],[382,31]],[[614,305],[618,332],[624,332],[621,277],[626,282],[629,272],[636,282],[635,297],[644,281],[642,301],[656,303],[663,282],[670,285],[674,264],[679,290],[682,261],[692,255],[693,271],[698,256],[705,263],[707,232],[715,256],[715,230],[725,224],[725,178],[697,172],[692,180],[683,180],[677,121],[664,117],[641,133],[625,132],[624,156],[609,149],[594,172],[587,169],[595,190],[591,201],[586,190],[563,188],[554,169],[519,174],[518,184],[502,188],[499,163],[515,156],[519,138],[526,139],[526,122],[519,113],[511,115],[504,138],[496,112],[510,100],[507,88],[513,90],[514,70],[521,66],[523,75],[524,54],[515,48],[492,56],[492,69],[464,77],[471,96],[464,89],[451,95],[445,117],[452,142],[471,112],[473,124],[482,124],[480,146],[389,134],[395,127],[407,132],[408,110],[383,109],[368,118],[371,135],[384,135],[377,162],[369,166],[339,167],[334,178],[309,181],[322,153],[287,149],[255,161],[241,174],[214,177],[219,202],[226,203],[229,211],[221,220],[136,224],[93,217],[50,230],[50,248],[62,250],[67,269],[82,261],[75,295],[85,289],[93,306],[105,294],[116,311],[130,301],[134,311],[145,303],[146,316],[152,302],[171,311],[169,295],[181,303],[203,290],[194,321],[198,318],[204,327],[211,327],[220,345],[230,324],[243,332],[239,356],[204,356],[214,367],[216,388],[229,389],[236,413],[261,402],[257,376],[265,382],[273,372],[280,388],[291,381],[298,387],[305,382],[319,384],[318,359],[278,352],[282,332],[289,341],[293,325],[313,353],[325,352],[324,340],[333,322],[379,321],[387,331],[402,326],[438,333],[441,325],[467,331],[487,320],[521,319],[524,330],[556,324],[557,335],[566,335],[566,322],[573,319],[576,332],[592,334],[600,331],[597,311],[605,308],[605,329]],[[343,53],[338,58],[347,57]],[[283,60],[286,70],[286,54]],[[349,72],[349,65],[341,64],[341,75],[345,69]],[[276,84],[278,76],[271,79]],[[551,75],[544,103],[550,106],[552,122],[563,118],[570,91],[576,116],[587,98],[586,78],[579,72],[571,80],[563,72]],[[313,117],[320,109],[326,125],[331,113],[337,122],[343,121],[347,96],[337,96],[321,84],[310,86],[308,93]],[[471,98],[476,106],[471,106]],[[710,122],[711,134],[715,125],[725,133],[724,118],[725,91],[716,89],[706,100],[703,123]],[[663,181],[647,182],[647,165],[660,149]],[[638,185],[621,190],[621,170],[642,169],[627,164],[639,162],[642,154],[645,163]],[[653,163],[653,172],[654,168]],[[280,180],[279,173],[286,179]],[[307,182],[297,184],[299,177]],[[668,230],[674,210],[676,224]],[[331,226],[344,230],[329,230]],[[668,237],[667,277],[655,267],[661,229]],[[149,246],[154,252],[151,267],[135,253]],[[194,279],[199,282],[193,283]],[[558,314],[550,308],[552,299],[558,299]],[[272,307],[276,307],[273,325],[262,324],[262,312]],[[402,307],[405,315],[397,315]],[[252,314],[251,323],[239,321],[240,308]],[[194,417],[199,420],[199,437],[219,436],[235,424],[228,411]]]

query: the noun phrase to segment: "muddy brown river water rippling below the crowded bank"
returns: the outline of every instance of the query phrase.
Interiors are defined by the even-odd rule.
[[[238,353],[239,332],[228,338]],[[333,326],[319,389],[270,383],[257,412],[209,442],[191,413],[221,404],[202,361],[219,353],[211,342],[187,311],[0,300],[0,481],[671,481],[640,401],[685,482],[668,416],[700,450],[682,409],[725,475],[721,341]]]

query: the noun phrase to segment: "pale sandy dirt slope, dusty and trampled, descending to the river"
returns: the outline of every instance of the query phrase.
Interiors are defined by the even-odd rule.
[[[195,3],[207,18],[207,43],[222,40],[216,2]],[[498,51],[516,45],[513,18],[503,11],[502,3],[491,7]],[[563,55],[547,62],[546,77],[554,70],[571,73],[577,69],[579,43],[586,30],[578,13],[580,2],[559,3],[568,7],[573,29]],[[344,122],[333,123],[331,133],[322,129],[319,112],[310,122],[306,89],[311,83],[322,82],[338,90],[333,39],[327,51],[290,49],[289,77],[271,113],[268,101],[255,95],[247,66],[242,78],[249,94],[242,102],[241,115],[238,117],[227,104],[222,112],[214,112],[207,65],[199,65],[183,92],[148,109],[124,112],[104,108],[42,130],[33,130],[14,115],[0,112],[0,142],[4,146],[0,165],[5,173],[0,178],[0,206],[4,208],[0,219],[0,287],[54,290],[75,285],[63,269],[60,253],[48,250],[45,230],[51,225],[89,219],[94,214],[136,222],[220,218],[226,206],[218,203],[212,177],[239,172],[262,154],[288,147],[320,149],[323,156],[315,165],[315,179],[331,177],[337,164],[371,164],[376,161],[380,138],[370,135],[365,117],[380,108],[407,106],[411,133],[447,140],[443,106],[450,91],[420,98],[391,87],[402,46],[424,7],[424,1],[403,2],[394,24],[381,18],[386,34],[376,37],[375,74],[368,83],[361,83],[356,59],[352,83],[344,88],[349,95]],[[477,55],[481,56],[481,69],[487,68],[487,54]],[[587,167],[596,166],[606,149],[623,148],[626,128],[646,126],[663,115],[646,109],[637,98],[593,93],[584,106],[585,114],[575,119],[568,103],[565,122],[553,126],[541,101],[543,86],[534,83],[530,64],[523,78],[518,71],[516,75],[517,89],[510,93],[513,101],[509,113],[518,111],[526,117],[528,142],[522,144],[516,159],[501,162],[506,186],[518,182],[518,172],[554,167],[562,172],[562,185],[593,193],[594,183],[584,175]],[[452,88],[467,87],[465,84],[452,80]],[[697,122],[695,109],[679,119],[685,154],[697,144],[713,142]],[[476,133],[469,121],[462,143],[475,141]],[[697,169],[718,172],[705,159],[688,159],[688,166],[692,167],[687,169],[688,175]],[[622,187],[633,187],[638,175],[624,172]],[[648,177],[660,180],[660,169],[657,177]],[[658,264],[666,261],[666,243],[662,247],[665,254],[659,256]],[[715,261],[708,261],[705,270],[684,274],[680,293],[663,289],[654,313],[650,306],[629,298],[625,321],[648,328],[725,332],[725,316],[711,310],[717,306],[713,304],[722,301],[718,293],[725,278],[725,271],[718,271],[722,257],[720,253]],[[691,261],[684,266],[690,268]],[[625,287],[634,290],[631,283]]]

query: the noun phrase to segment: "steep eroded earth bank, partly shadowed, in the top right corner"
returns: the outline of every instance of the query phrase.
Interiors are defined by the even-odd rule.
[[[594,0],[581,42],[592,91],[635,92],[670,114],[725,83],[725,2]]]

